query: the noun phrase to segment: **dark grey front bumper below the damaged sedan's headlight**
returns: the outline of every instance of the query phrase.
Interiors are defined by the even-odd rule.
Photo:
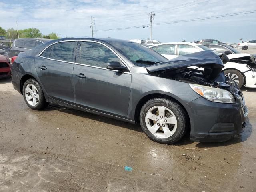
[[[197,142],[226,141],[243,132],[248,108],[243,99],[234,104],[210,102],[198,98],[188,103],[191,109],[190,139]]]

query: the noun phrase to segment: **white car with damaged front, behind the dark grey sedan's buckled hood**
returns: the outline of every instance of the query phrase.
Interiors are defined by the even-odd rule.
[[[211,50],[202,44],[186,42],[161,43],[150,46],[150,48],[167,59]],[[216,52],[216,54],[218,53]],[[242,86],[256,88],[256,58],[247,53],[229,54],[227,56],[230,62],[227,62],[223,68],[225,76],[232,78],[240,88]]]

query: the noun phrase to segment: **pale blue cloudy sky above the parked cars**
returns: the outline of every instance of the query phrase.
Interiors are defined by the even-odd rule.
[[[42,34],[55,32],[64,37],[91,37],[94,30],[148,26],[256,10],[255,0],[0,0],[0,26],[4,29],[38,28]],[[95,37],[119,39],[150,38],[150,27],[94,31]],[[160,42],[192,42],[217,39],[238,43],[256,40],[256,13],[230,17],[153,25],[153,39]]]

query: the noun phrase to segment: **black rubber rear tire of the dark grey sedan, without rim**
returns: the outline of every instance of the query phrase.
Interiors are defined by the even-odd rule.
[[[28,86],[29,84],[32,84],[36,87],[37,91],[38,91],[38,103],[33,106],[33,105],[30,105],[28,103],[28,101],[26,100],[26,95],[25,95],[25,89],[26,89],[26,86]],[[27,106],[31,109],[34,109],[34,110],[42,110],[44,108],[46,108],[48,106],[48,102],[46,102],[45,98],[44,98],[44,92],[42,90],[42,87],[40,86],[40,84],[35,80],[35,79],[28,79],[26,80],[26,82],[24,83],[23,85],[23,98],[27,104]]]

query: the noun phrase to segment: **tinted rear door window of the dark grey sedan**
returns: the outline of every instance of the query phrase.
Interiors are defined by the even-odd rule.
[[[52,45],[51,59],[73,62],[77,41],[60,42]]]

